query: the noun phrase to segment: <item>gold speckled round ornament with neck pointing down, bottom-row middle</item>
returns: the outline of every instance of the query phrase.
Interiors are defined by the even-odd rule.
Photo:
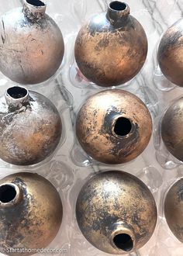
[[[150,239],[157,222],[154,197],[140,179],[123,171],[105,171],[81,189],[78,226],[101,251],[126,254]]]

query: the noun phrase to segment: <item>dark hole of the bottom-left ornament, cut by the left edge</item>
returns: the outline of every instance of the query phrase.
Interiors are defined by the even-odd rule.
[[[11,202],[16,198],[16,189],[12,185],[0,186],[0,201],[3,203]]]

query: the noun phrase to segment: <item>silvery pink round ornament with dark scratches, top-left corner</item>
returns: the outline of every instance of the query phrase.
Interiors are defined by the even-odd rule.
[[[60,67],[64,40],[59,27],[45,14],[40,0],[23,0],[0,22],[0,71],[12,81],[29,85],[46,81]]]

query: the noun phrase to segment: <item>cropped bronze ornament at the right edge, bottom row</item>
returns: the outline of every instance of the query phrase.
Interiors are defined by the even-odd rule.
[[[183,178],[172,185],[164,202],[167,225],[178,240],[183,243]]]

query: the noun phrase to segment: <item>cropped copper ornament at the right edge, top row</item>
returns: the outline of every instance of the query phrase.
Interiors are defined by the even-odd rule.
[[[164,76],[183,87],[183,19],[179,19],[164,33],[157,60]]]

